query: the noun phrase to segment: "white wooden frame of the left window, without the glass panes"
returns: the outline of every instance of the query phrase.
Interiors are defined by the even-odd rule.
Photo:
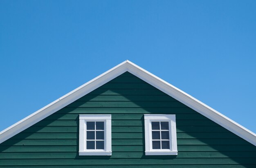
[[[104,121],[104,149],[86,149],[86,122],[90,121]],[[112,155],[111,114],[79,114],[79,155]]]

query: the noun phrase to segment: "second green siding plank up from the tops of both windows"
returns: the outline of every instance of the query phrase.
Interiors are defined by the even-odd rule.
[[[151,107],[174,107],[174,108],[180,108],[180,107],[187,107],[186,105],[178,102],[178,101],[132,101],[132,102],[126,102],[126,101],[75,101],[74,103],[71,103],[70,105],[67,105],[66,107],[69,108],[101,108],[101,107],[121,107],[121,108],[151,108]]]

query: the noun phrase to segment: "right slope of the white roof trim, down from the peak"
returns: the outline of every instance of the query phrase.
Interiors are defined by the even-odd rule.
[[[233,132],[234,134],[256,146],[256,134],[254,132],[229,119],[227,116],[214,110],[213,108],[202,103],[198,99],[195,99],[193,96],[183,92],[182,90],[171,85],[170,83],[162,80],[161,78],[155,76],[154,74],[151,74],[150,72],[137,66],[136,64],[131,63],[130,61],[128,62],[130,63],[130,66],[133,67],[128,68],[128,72],[130,72],[131,74],[141,78],[145,82],[153,85],[154,87],[173,97],[177,101],[180,101],[181,103],[187,105],[189,108],[192,108],[196,112],[202,114],[208,119],[211,119],[215,123],[221,125],[222,127],[226,128],[227,130]]]

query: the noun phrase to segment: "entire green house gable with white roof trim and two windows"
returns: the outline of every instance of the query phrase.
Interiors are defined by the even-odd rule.
[[[256,134],[126,60],[0,132],[0,167],[256,168]]]

